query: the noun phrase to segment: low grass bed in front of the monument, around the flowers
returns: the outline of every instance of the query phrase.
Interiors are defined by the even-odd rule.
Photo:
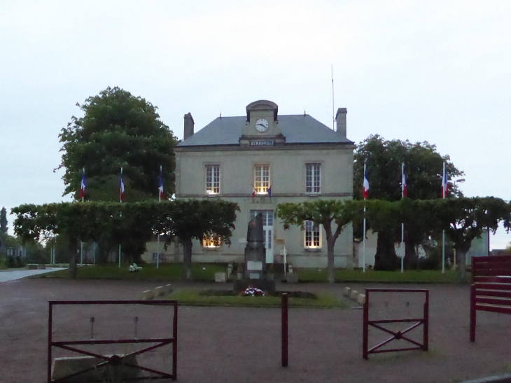
[[[183,306],[239,306],[239,307],[281,307],[281,298],[274,296],[241,297],[201,295],[200,290],[177,290],[167,299],[178,300]],[[330,294],[318,294],[316,299],[289,298],[289,307],[346,308],[347,305]]]

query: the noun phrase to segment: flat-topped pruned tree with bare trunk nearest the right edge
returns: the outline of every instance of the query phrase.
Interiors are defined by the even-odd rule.
[[[465,256],[472,240],[481,237],[483,230],[495,232],[503,222],[505,230],[511,228],[510,204],[496,197],[446,198],[430,202],[437,220],[454,242],[458,261],[458,280],[466,281]]]

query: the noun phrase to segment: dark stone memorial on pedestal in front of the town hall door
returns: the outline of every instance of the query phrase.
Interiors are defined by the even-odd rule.
[[[262,291],[274,292],[275,281],[266,279],[266,249],[262,216],[258,214],[248,223],[246,230],[245,270],[243,278],[235,280],[235,291],[242,291],[248,286]]]

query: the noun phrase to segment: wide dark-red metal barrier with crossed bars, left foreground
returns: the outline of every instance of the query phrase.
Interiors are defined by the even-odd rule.
[[[159,375],[157,377],[141,377],[140,379],[173,379],[175,380],[177,377],[177,320],[178,320],[178,305],[177,300],[50,300],[49,302],[49,315],[48,315],[48,383],[59,382],[70,377],[76,377],[85,372],[90,372],[91,370],[95,370],[97,368],[105,367],[106,365],[128,365],[132,368],[138,368],[139,370],[143,370],[146,372],[152,372],[153,374]],[[55,342],[52,340],[52,314],[53,314],[53,306],[55,305],[153,305],[153,306],[173,306],[174,307],[174,319],[172,321],[172,337],[158,337],[158,338],[148,338],[148,339],[116,339],[116,340],[71,340],[71,341],[62,341]],[[105,356],[102,354],[97,354],[90,351],[85,351],[83,349],[78,349],[77,345],[85,345],[85,344],[144,344],[144,343],[158,343],[150,347],[145,347],[143,349],[139,349],[130,354],[125,354],[123,356],[113,355],[113,356]],[[144,354],[144,352],[151,351],[153,349],[157,349],[158,347],[165,346],[167,344],[172,343],[172,373],[154,370],[153,368],[146,368],[141,365],[134,365],[131,363],[127,363],[123,361],[125,358],[130,356]],[[94,365],[92,368],[87,368],[86,370],[73,373],[71,375],[66,375],[66,377],[62,377],[60,379],[52,380],[51,376],[51,368],[52,368],[52,347],[59,347],[61,349],[66,349],[68,351],[73,351],[78,354],[83,354],[87,356],[94,356],[95,358],[99,358],[102,360],[101,363]]]

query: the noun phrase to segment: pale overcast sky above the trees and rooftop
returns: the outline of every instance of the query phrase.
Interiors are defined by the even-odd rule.
[[[107,86],[179,138],[185,113],[197,131],[257,99],[331,126],[331,65],[349,139],[429,141],[465,195],[510,200],[510,15],[511,1],[0,0],[0,207],[69,200],[57,135]]]

